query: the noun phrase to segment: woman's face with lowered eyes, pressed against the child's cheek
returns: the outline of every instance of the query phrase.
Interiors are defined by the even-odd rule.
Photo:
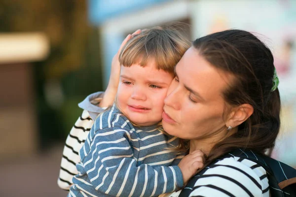
[[[176,66],[176,78],[164,101],[162,125],[166,132],[195,139],[226,129],[222,115],[230,75],[211,66],[191,47]]]

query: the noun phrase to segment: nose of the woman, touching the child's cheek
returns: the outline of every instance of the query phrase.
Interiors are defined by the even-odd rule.
[[[167,93],[167,97],[164,99],[164,105],[173,107],[175,110],[181,109],[181,93],[178,87],[170,87]]]

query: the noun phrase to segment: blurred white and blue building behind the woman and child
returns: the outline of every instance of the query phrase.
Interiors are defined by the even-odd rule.
[[[192,40],[230,28],[258,33],[280,78],[282,131],[273,157],[296,166],[296,0],[89,0],[89,20],[101,32],[105,87],[113,55],[137,29],[182,21]]]

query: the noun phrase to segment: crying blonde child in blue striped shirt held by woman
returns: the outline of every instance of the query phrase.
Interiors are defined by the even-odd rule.
[[[79,152],[70,197],[157,196],[182,187],[195,173],[191,164],[201,155],[188,155],[177,166],[181,157],[173,148],[179,139],[159,131],[174,66],[188,47],[180,33],[161,28],[124,46],[117,99],[96,119]]]

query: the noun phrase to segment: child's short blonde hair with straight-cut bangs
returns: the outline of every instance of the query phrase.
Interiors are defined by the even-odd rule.
[[[131,38],[119,54],[122,66],[146,66],[155,61],[156,69],[174,74],[174,67],[190,47],[190,41],[176,28],[154,27],[142,30]]]

